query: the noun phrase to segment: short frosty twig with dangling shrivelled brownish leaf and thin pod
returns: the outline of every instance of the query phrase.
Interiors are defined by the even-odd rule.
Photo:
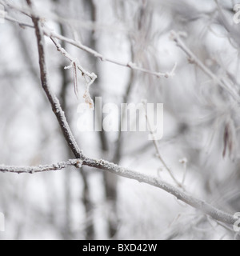
[[[57,50],[62,53],[63,56],[68,58],[71,62],[70,66],[65,66],[64,69],[70,69],[72,68],[74,71],[74,93],[76,94],[78,98],[78,74],[77,69],[81,71],[82,77],[86,81],[86,90],[83,94],[83,98],[85,99],[86,104],[90,106],[91,109],[94,109],[94,101],[90,96],[90,86],[94,83],[95,79],[97,78],[97,75],[94,73],[89,73],[86,71],[80,64],[78,63],[78,59],[73,58],[62,46],[57,42],[56,39],[50,37],[52,42],[54,42],[54,45],[57,47]]]

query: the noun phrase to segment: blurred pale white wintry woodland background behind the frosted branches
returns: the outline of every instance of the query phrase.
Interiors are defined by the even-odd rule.
[[[134,61],[148,70],[170,72],[174,77],[154,75],[102,62],[66,43],[98,79],[90,86],[92,96],[120,105],[131,83],[128,102],[146,99],[164,103],[164,136],[159,151],[174,177],[182,180],[186,158],[186,190],[234,213],[240,210],[239,104],[218,82],[191,63],[170,37],[172,30],[186,33],[182,41],[216,78],[239,92],[239,29],[233,22],[234,1],[98,0],[96,20],[90,1],[33,1],[46,25],[66,37],[78,38],[106,58]],[[1,1],[26,8],[25,1]],[[1,3],[0,2],[0,3]],[[17,8],[17,9],[18,9]],[[7,6],[7,14],[21,22],[30,18]],[[224,18],[222,18],[224,17]],[[226,22],[228,26],[226,26]],[[94,33],[92,33],[94,30]],[[236,34],[237,33],[237,34]],[[74,158],[58,127],[39,79],[38,50],[34,29],[16,22],[0,23],[0,164],[38,166]],[[74,94],[70,62],[46,38],[50,84],[62,97],[62,72],[66,74],[66,118],[78,145],[91,158],[113,161],[118,133],[106,133],[108,150],[102,150],[99,133],[79,132],[78,104],[83,102],[84,79],[78,74],[78,98]],[[224,129],[233,124],[223,158]],[[148,132],[123,132],[121,166],[146,174],[173,179],[156,157]],[[230,143],[230,139],[228,141]],[[90,211],[82,201],[82,175],[75,168],[38,174],[0,173],[0,212],[5,214],[5,232],[0,239],[233,239],[234,233],[194,208],[178,202],[156,187],[114,175],[114,202],[106,198],[102,170],[84,167],[90,191]],[[117,179],[117,180],[116,180]],[[109,220],[117,230],[113,237]],[[93,223],[89,237],[86,230]]]

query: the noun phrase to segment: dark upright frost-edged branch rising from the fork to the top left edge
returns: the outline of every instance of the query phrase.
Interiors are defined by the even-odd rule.
[[[31,1],[26,0],[26,2],[31,7]],[[33,15],[32,20],[34,22],[35,34],[38,41],[38,55],[39,55],[39,66],[40,66],[42,88],[45,91],[46,96],[50,101],[54,114],[58,119],[58,123],[62,129],[62,133],[66,138],[66,142],[70,146],[70,149],[73,151],[75,157],[81,158],[82,151],[79,149],[78,144],[75,141],[74,135],[70,130],[70,126],[66,121],[66,117],[62,110],[60,102],[58,101],[58,98],[56,97],[54,92],[51,90],[49,85],[49,79],[48,79],[47,70],[46,70],[45,42],[44,42],[44,35],[43,35],[40,19]]]

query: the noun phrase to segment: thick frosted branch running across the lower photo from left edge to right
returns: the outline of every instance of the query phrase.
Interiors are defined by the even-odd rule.
[[[35,167],[17,167],[17,166],[0,166],[0,172],[11,173],[28,173],[34,174],[37,172],[49,171],[49,170],[61,170],[69,166],[75,166],[77,168],[84,166],[95,167],[101,170],[109,171],[110,173],[117,174],[119,176],[134,179],[138,182],[143,182],[151,186],[156,186],[167,193],[174,195],[178,200],[185,202],[189,206],[193,206],[197,210],[201,210],[204,214],[210,215],[212,218],[219,222],[224,222],[233,225],[236,219],[232,214],[228,214],[219,210],[218,208],[210,205],[202,199],[195,198],[194,196],[186,193],[178,187],[172,186],[167,182],[163,182],[160,178],[150,176],[150,174],[142,174],[136,170],[130,170],[122,166],[118,166],[113,162],[107,162],[105,160],[96,160],[82,156],[81,159],[70,159],[66,162],[58,162],[57,164]]]

